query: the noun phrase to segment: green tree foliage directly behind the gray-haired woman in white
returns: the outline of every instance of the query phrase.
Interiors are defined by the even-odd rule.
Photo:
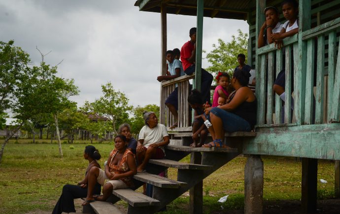
[[[144,111],[154,111],[157,118],[159,118],[159,106],[155,104],[146,105],[145,107],[135,107],[134,116],[131,118],[131,132],[134,134],[138,134],[140,129],[145,125],[143,119]]]

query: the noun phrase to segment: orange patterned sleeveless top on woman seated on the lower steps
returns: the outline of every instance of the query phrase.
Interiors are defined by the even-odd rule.
[[[112,162],[113,162],[114,156],[116,156],[117,153],[118,153],[118,149],[113,149],[110,153],[111,161],[108,165],[110,168],[110,172],[114,174],[123,174],[123,173],[130,171],[129,164],[128,164],[128,154],[130,153],[135,157],[134,153],[130,151],[129,149],[126,149],[123,154],[122,160],[119,162],[118,165],[114,165]],[[125,177],[125,178],[119,178],[119,179],[122,180],[124,183],[126,183],[126,185],[128,185],[129,187],[134,186],[132,177]]]

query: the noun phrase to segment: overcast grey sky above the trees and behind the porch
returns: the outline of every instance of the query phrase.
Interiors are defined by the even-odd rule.
[[[73,78],[82,106],[102,95],[101,85],[112,82],[133,106],[159,105],[161,68],[160,13],[142,12],[136,0],[0,0],[0,40],[14,39],[39,64],[42,53],[59,75]],[[188,41],[196,17],[168,14],[168,49]],[[237,30],[248,32],[240,20],[204,18],[203,49],[218,38],[230,41]],[[204,61],[203,67],[209,64]]]

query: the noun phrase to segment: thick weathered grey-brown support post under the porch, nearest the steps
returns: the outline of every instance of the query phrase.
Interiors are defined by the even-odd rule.
[[[263,161],[250,155],[244,167],[244,214],[263,213]]]

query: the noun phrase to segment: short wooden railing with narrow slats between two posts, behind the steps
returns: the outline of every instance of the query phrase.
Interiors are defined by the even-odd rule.
[[[162,82],[162,87],[165,90],[165,99],[178,87],[178,127],[189,127],[191,125],[191,112],[189,112],[188,95],[190,90],[189,79],[195,78],[195,73],[192,75],[184,75]],[[178,86],[176,86],[176,84]],[[164,99],[164,102],[165,102]],[[166,108],[166,125],[170,127],[174,124],[174,118],[168,107]]]

